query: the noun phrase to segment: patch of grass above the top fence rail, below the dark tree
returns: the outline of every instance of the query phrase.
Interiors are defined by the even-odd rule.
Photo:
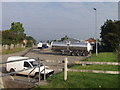
[[[99,53],[98,56],[92,55],[92,58],[86,59],[84,61],[95,61],[95,62],[118,62],[116,53],[104,52]]]

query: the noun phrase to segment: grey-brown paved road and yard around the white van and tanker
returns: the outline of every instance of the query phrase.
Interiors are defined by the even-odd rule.
[[[62,69],[63,68],[63,63],[62,62],[58,62],[58,61],[63,61],[65,57],[68,58],[68,61],[80,61],[83,60],[85,57],[81,57],[81,56],[66,56],[66,55],[61,55],[58,52],[53,52],[51,51],[51,49],[44,49],[44,50],[39,50],[37,48],[33,48],[31,49],[28,53],[26,53],[26,51],[22,51],[19,53],[14,53],[14,54],[7,54],[7,55],[2,55],[2,61],[5,62],[7,61],[7,58],[9,56],[20,56],[25,54],[25,56],[30,57],[30,58],[39,58],[40,60],[42,60],[41,62],[44,63],[46,66],[49,66],[52,69],[55,69],[55,73],[59,73],[61,71],[56,70],[56,69]],[[46,62],[47,61],[55,61],[55,62]],[[72,65],[71,63],[69,63],[68,65]],[[6,69],[5,69],[6,65],[2,65],[2,73],[7,73]],[[32,83],[28,83],[28,77],[27,76],[23,76],[23,75],[16,75],[16,76],[5,76],[3,77],[3,82],[4,83],[4,87],[23,87],[23,88],[32,88],[34,87],[33,83],[37,82],[38,80],[34,80],[32,77],[30,78],[32,81]],[[13,81],[16,85],[11,85],[9,82]],[[24,83],[23,83],[23,82]]]

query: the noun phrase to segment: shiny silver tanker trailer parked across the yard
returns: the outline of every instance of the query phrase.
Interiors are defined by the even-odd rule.
[[[87,56],[92,51],[92,46],[88,42],[53,42],[52,50],[60,51],[62,54],[72,56]]]

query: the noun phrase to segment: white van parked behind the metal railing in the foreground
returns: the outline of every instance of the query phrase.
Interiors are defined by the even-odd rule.
[[[16,72],[24,69],[29,69],[38,65],[38,62],[35,59],[30,59],[28,57],[21,57],[21,56],[11,56],[7,59],[7,61],[11,61],[10,63],[7,63],[6,69],[8,72]],[[28,75],[32,70],[33,68],[22,72],[18,72],[17,74]],[[45,66],[45,71],[44,71],[44,66],[42,64],[40,65],[40,71],[41,71],[41,77],[44,76],[44,72],[46,74],[46,77],[54,73],[54,71],[50,70],[48,66]],[[39,75],[39,68],[36,67],[36,69],[34,69],[34,71],[32,71],[32,73],[30,74],[30,76],[36,76],[38,78],[38,75]]]

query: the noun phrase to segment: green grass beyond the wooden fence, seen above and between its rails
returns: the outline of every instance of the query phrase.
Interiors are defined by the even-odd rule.
[[[84,61],[97,61],[97,62],[117,62],[116,54],[107,52],[99,53],[98,56],[95,54],[92,55],[92,58],[86,59]],[[85,69],[85,70],[104,70],[104,71],[118,71],[117,65],[74,65],[72,69]]]

